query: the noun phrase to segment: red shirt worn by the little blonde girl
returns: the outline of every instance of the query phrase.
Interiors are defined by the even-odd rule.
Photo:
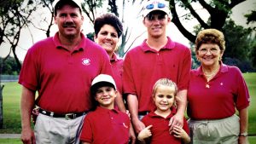
[[[150,144],[160,144],[160,143],[172,143],[172,144],[181,144],[182,139],[176,138],[173,135],[170,135],[168,126],[170,119],[176,113],[176,110],[173,108],[172,113],[166,118],[163,118],[154,112],[149,112],[148,115],[143,117],[143,124],[147,127],[148,125],[153,125],[151,127],[152,136],[150,138]],[[183,130],[189,135],[189,125],[186,121],[186,118],[183,120]]]

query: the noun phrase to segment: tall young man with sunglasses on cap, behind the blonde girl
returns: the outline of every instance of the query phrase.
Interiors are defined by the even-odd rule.
[[[151,90],[160,78],[170,78],[177,84],[177,114],[170,120],[173,125],[183,125],[183,113],[187,104],[187,89],[191,67],[189,48],[173,42],[166,36],[171,22],[169,3],[164,0],[150,0],[143,6],[143,25],[148,38],[125,55],[123,84],[131,122],[138,133],[145,128],[140,121],[154,110]]]

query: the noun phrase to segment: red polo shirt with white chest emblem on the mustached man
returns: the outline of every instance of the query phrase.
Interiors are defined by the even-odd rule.
[[[57,113],[90,109],[90,84],[100,73],[112,75],[104,49],[81,34],[79,46],[69,51],[58,33],[35,43],[27,51],[19,83],[38,90],[36,104]]]

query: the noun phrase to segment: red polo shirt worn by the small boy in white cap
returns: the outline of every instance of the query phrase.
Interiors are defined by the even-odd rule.
[[[128,144],[130,118],[125,112],[97,107],[84,118],[81,141],[90,144]]]

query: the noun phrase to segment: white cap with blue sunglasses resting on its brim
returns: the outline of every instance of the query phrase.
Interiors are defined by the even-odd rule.
[[[143,18],[154,10],[163,11],[168,16],[171,16],[168,2],[165,0],[150,0],[143,5]]]

